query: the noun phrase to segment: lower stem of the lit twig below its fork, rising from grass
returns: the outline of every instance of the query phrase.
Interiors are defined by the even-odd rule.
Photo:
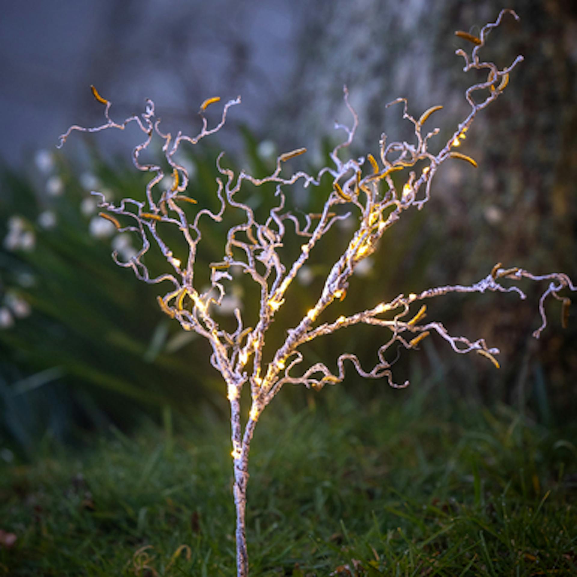
[[[241,407],[239,396],[230,400],[231,439],[233,441],[234,463],[234,505],[237,513],[237,577],[248,577],[249,556],[246,549],[246,485],[249,473],[250,441],[254,433],[256,420],[249,418],[245,433],[242,434]]]

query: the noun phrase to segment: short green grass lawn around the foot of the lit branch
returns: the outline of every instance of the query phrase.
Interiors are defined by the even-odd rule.
[[[251,575],[577,574],[575,426],[418,387],[308,400],[256,430]],[[234,575],[227,424],[164,424],[3,466],[0,575]]]

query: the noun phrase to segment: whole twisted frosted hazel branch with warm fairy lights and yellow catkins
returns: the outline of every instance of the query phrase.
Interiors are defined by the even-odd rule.
[[[495,356],[499,354],[499,349],[488,347],[484,339],[470,340],[465,336],[453,336],[439,321],[419,324],[425,320],[426,305],[421,303],[421,308],[415,312],[414,304],[452,293],[485,291],[516,293],[520,298],[526,298],[516,284],[501,284],[504,280],[517,282],[527,279],[549,283],[539,299],[541,325],[534,332],[536,338],[547,325],[544,303],[549,295],[561,301],[561,321],[563,326],[567,325],[571,301],[559,295],[559,292],[564,289],[576,290],[567,275],[533,275],[518,267],[503,268],[501,263],[495,265],[484,278],[469,286],[447,285],[428,288],[420,293],[400,294],[362,312],[339,316],[332,321],[325,320],[321,324],[318,322],[321,316],[329,316],[327,309],[335,300],[340,301],[346,296],[355,268],[377,250],[385,231],[395,224],[405,211],[412,208],[420,210],[429,201],[431,183],[441,164],[449,159],[459,159],[477,167],[477,162],[470,156],[452,149],[463,143],[478,112],[503,93],[512,70],[523,59],[521,56],[516,57],[511,65],[502,70],[492,62],[482,62],[479,59],[479,50],[485,46],[489,32],[501,23],[505,14],[511,14],[518,19],[512,10],[503,10],[494,23],[481,29],[478,37],[467,32],[456,32],[456,36],[474,45],[470,55],[462,49],[456,52],[464,58],[464,71],[486,70],[488,76],[484,83],[474,84],[467,89],[465,96],[471,110],[436,153],[429,147],[431,138],[439,134],[439,129],[435,128],[425,136],[421,130],[431,115],[443,107],[432,106],[415,119],[409,114],[407,100],[399,98],[387,106],[403,104],[402,115],[413,125],[414,140],[387,143],[387,137],[383,134],[379,141],[380,162],[370,153],[364,158],[351,158],[350,155],[347,158],[347,148],[353,142],[357,130],[358,115],[351,106],[349,93],[344,87],[344,103],[352,117],[352,123],[350,127],[340,123],[335,125],[336,129],[344,131],[345,137],[329,153],[332,163],[330,166],[321,168],[316,175],[297,171],[282,176],[283,170],[290,171],[290,164],[286,162],[306,152],[305,148],[297,148],[278,156],[272,174],[256,178],[245,171],[235,173],[231,168],[224,167],[224,153],[220,153],[216,159],[219,177],[216,178],[213,190],[216,209],[211,211],[198,207],[197,201],[185,194],[189,186],[189,175],[185,166],[175,160],[175,155],[181,144],[194,146],[203,138],[218,132],[226,122],[229,108],[239,104],[240,98],[224,104],[220,121],[213,128],[208,127],[204,111],[209,105],[219,103],[220,98],[204,100],[199,111],[202,123],[200,132],[194,137],[178,132],[173,137],[160,130],[160,119],[156,118],[155,106],[151,100],[147,100],[144,114],[134,115],[122,123],[117,123],[109,115],[111,103],[92,87],[96,100],[106,105],[106,122],[94,128],[74,125],[60,137],[59,145],[62,146],[72,132],[93,133],[108,128],[123,130],[132,122],[144,133],[144,140],[132,153],[134,166],[138,170],[151,173],[143,198],[122,198],[118,204],[114,204],[107,201],[102,193],[93,194],[99,198],[99,206],[106,211],[100,213],[103,218],[108,219],[119,230],[140,236],[141,248],[137,254],[129,261],[122,262],[118,254],[113,253],[115,263],[124,268],[132,268],[137,278],[146,283],[167,283],[170,288],[163,297],[158,297],[162,312],[177,320],[184,330],[194,331],[206,338],[211,345],[210,362],[222,374],[231,407],[231,456],[234,461],[234,501],[237,512],[237,572],[241,577],[248,575],[245,509],[250,442],[261,413],[284,384],[301,384],[320,389],[325,384],[340,383],[345,378],[345,365],[348,363],[361,377],[382,378],[386,379],[391,387],[406,387],[409,381],[395,383],[392,366],[403,351],[418,349],[422,340],[433,334],[444,339],[455,353],[468,354],[475,351],[499,368]],[[473,99],[473,94],[477,92],[482,94],[480,102]],[[140,162],[141,152],[149,147],[153,138],[163,141],[164,160],[170,166],[172,183],[164,189],[161,183],[165,174],[160,164]],[[423,166],[423,163],[425,166],[419,171],[417,165]],[[305,188],[318,187],[325,174],[332,179],[332,189],[325,197],[320,213],[302,215],[286,208],[287,189],[297,181],[301,181]],[[245,181],[257,187],[265,184],[274,186],[273,207],[269,209],[268,215],[257,218],[253,208],[242,200],[239,193]],[[348,212],[343,212],[339,206],[343,204],[347,205]],[[198,245],[203,240],[201,222],[220,223],[227,209],[233,209],[237,214],[240,212],[241,222],[228,229],[222,257],[208,264],[210,284],[204,287],[203,281],[203,288],[200,288],[197,282],[200,267],[197,254]],[[270,351],[272,354],[267,358],[271,360],[265,362],[267,332],[279,309],[287,301],[288,288],[297,278],[299,270],[307,263],[320,239],[329,233],[336,222],[350,218],[353,212],[358,213],[359,218],[355,221],[358,224],[351,233],[346,248],[329,270],[320,294],[316,295],[316,300],[313,299],[308,312],[302,312],[302,317],[301,313],[298,313],[298,321],[286,330],[284,342],[276,351]],[[121,228],[121,217],[133,224]],[[164,240],[165,231],[170,227],[178,229],[186,243],[186,250],[178,255]],[[286,246],[290,238],[287,237],[288,233],[302,237],[304,241],[299,241],[302,245],[295,260],[292,263],[283,263],[279,249]],[[151,243],[155,244],[167,264],[168,272],[158,276],[151,275],[143,260],[151,249]],[[246,327],[241,310],[235,308],[237,327],[233,332],[229,332],[220,327],[213,313],[218,312],[224,297],[234,285],[233,271],[242,271],[256,284],[259,312],[254,326]],[[293,318],[294,313],[297,311],[293,310]],[[384,342],[377,350],[377,360],[372,368],[364,369],[353,353],[338,355],[335,361],[336,370],[329,369],[323,362],[306,366],[301,351],[306,348],[306,344],[358,324],[375,325],[383,329]],[[389,351],[395,343],[396,355],[395,358],[390,358]],[[240,399],[245,384],[250,387],[251,405],[248,415],[242,418]]]

